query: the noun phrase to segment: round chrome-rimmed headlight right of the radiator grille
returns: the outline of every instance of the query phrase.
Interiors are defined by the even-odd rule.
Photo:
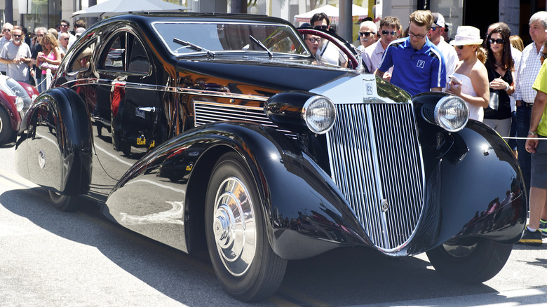
[[[469,119],[469,109],[464,100],[445,96],[435,105],[435,123],[449,132],[463,129]]]

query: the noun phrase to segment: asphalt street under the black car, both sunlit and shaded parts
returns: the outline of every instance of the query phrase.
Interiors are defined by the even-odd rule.
[[[547,244],[515,245],[481,285],[442,278],[425,254],[355,248],[290,261],[276,295],[226,294],[206,252],[187,255],[104,219],[93,204],[55,210],[0,147],[0,306],[547,306]],[[544,240],[547,243],[547,240]]]

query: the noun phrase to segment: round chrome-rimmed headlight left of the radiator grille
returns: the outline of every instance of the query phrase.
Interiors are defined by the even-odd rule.
[[[327,97],[313,96],[304,104],[302,115],[309,130],[322,135],[335,124],[335,104]]]

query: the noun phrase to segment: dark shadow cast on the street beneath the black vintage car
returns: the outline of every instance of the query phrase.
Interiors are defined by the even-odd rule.
[[[102,217],[90,201],[82,198],[81,202],[85,209],[67,213],[48,205],[47,193],[41,188],[0,195],[0,203],[7,210],[57,236],[96,247],[124,271],[184,305],[212,306],[220,299],[227,305],[247,305],[224,292],[206,251],[188,255],[144,238]],[[210,295],[191,295],[197,289],[205,289]],[[365,248],[341,248],[289,261],[274,298],[252,306],[278,306],[280,300],[295,306],[351,306],[489,292],[495,290],[447,280],[418,257],[393,259]]]

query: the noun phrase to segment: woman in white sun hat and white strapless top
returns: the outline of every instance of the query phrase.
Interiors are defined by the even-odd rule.
[[[480,47],[480,31],[475,27],[460,26],[450,45],[456,48],[459,63],[447,92],[461,97],[469,107],[469,118],[482,121],[483,108],[488,107],[488,72],[485,67],[485,51]],[[451,77],[451,76],[449,76]]]

